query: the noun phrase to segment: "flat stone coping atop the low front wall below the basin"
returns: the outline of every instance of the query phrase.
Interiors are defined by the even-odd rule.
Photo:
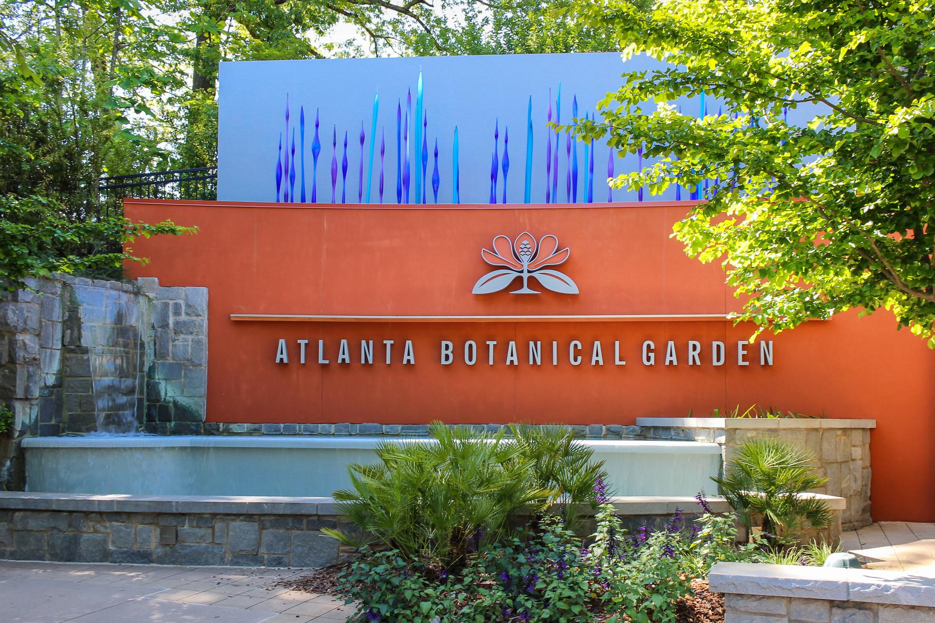
[[[826,500],[833,510],[842,510],[847,501],[821,493],[812,497]],[[692,496],[616,496],[611,502],[618,515],[671,515],[676,510],[692,514],[698,511],[698,500]],[[712,496],[708,505],[715,513],[730,512],[724,498]],[[89,493],[40,493],[32,491],[0,491],[0,509],[46,510],[92,513],[186,513],[227,515],[338,515],[333,498],[315,497],[252,497],[235,495],[94,495]],[[594,509],[584,506],[584,515]]]

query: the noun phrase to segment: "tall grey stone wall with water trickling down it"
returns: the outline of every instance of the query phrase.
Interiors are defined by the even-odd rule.
[[[0,294],[0,490],[24,486],[26,436],[204,430],[208,290],[155,278],[30,279]],[[96,388],[95,388],[96,384]]]

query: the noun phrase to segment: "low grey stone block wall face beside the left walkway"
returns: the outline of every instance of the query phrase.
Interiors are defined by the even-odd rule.
[[[324,567],[344,555],[319,515],[0,510],[0,559]]]

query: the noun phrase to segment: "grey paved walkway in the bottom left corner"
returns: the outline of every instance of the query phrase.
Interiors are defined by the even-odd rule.
[[[327,595],[269,587],[301,573],[0,560],[0,621],[335,623],[352,613]]]

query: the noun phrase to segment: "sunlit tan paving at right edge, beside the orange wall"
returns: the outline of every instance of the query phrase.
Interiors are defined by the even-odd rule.
[[[935,524],[880,521],[843,532],[841,549],[870,569],[935,575]]]

